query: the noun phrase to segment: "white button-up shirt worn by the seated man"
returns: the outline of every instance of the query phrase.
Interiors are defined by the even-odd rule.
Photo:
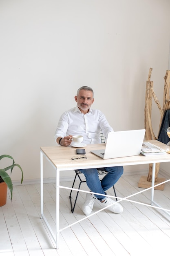
[[[108,132],[113,132],[105,115],[100,110],[91,108],[84,115],[76,106],[65,111],[60,117],[55,131],[55,141],[58,137],[82,135],[83,143],[96,144],[101,143],[100,132],[104,134],[106,139]]]

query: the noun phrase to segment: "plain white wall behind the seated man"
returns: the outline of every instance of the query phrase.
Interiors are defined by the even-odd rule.
[[[150,67],[163,101],[169,10],[169,0],[0,1],[0,155],[15,158],[25,181],[40,178],[40,146],[55,145],[57,121],[82,85],[114,130],[144,128]],[[155,106],[152,120],[157,135]]]

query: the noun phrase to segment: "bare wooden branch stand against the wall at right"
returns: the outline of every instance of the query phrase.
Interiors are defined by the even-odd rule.
[[[148,81],[146,81],[146,96],[145,96],[145,139],[146,140],[152,140],[152,139],[157,139],[158,136],[156,137],[153,129],[152,129],[152,119],[151,119],[151,114],[152,114],[152,98],[154,99],[155,103],[157,104],[157,107],[159,108],[160,112],[160,122],[159,122],[159,130],[161,127],[163,115],[166,112],[166,110],[170,109],[170,70],[166,70],[166,75],[164,76],[164,93],[163,93],[163,107],[161,107],[159,100],[157,99],[155,92],[153,90],[153,81],[150,81],[150,77],[152,74],[152,68],[149,70],[148,74]],[[156,164],[156,170],[155,170],[155,184],[158,184],[162,181],[164,181],[164,178],[158,178],[158,173],[159,173],[159,167],[160,164]],[[141,176],[141,179],[138,183],[138,187],[141,188],[148,188],[150,187],[150,182],[152,182],[152,164],[149,164],[149,172],[148,172],[148,177]],[[161,186],[155,187],[155,189],[163,190],[164,184]]]

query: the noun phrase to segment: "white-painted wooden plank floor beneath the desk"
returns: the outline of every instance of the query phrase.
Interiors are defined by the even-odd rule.
[[[146,174],[147,176],[147,174]],[[122,198],[141,191],[141,175],[123,175],[115,185]],[[162,175],[159,174],[159,177]],[[169,177],[167,177],[169,179]],[[71,186],[72,182],[63,182]],[[86,183],[82,184],[86,189]],[[69,190],[60,193],[60,228],[84,217],[81,210],[85,194],[80,193],[74,213],[70,211]],[[113,195],[113,189],[109,190]],[[150,203],[150,191],[132,200]],[[155,191],[155,200],[170,209],[170,182],[163,191]],[[96,200],[97,201],[97,200]],[[55,231],[55,184],[44,185],[44,213]],[[121,202],[120,215],[104,210],[60,233],[60,248],[40,219],[40,184],[14,186],[13,201],[0,207],[0,255],[3,256],[169,256],[170,217],[163,211],[142,204]],[[95,202],[94,210],[100,209]]]

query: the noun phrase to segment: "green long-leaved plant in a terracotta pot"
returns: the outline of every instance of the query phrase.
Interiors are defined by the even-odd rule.
[[[21,184],[23,181],[23,171],[21,166],[19,164],[15,164],[13,157],[11,157],[10,155],[1,155],[0,160],[4,157],[12,159],[13,163],[10,166],[0,169],[0,206],[6,204],[7,202],[7,187],[9,187],[9,190],[11,192],[11,200],[12,200],[13,184],[12,184],[11,178],[9,177],[6,171],[11,169],[11,173],[12,173],[13,167],[17,166],[18,168],[20,168],[22,173]]]

